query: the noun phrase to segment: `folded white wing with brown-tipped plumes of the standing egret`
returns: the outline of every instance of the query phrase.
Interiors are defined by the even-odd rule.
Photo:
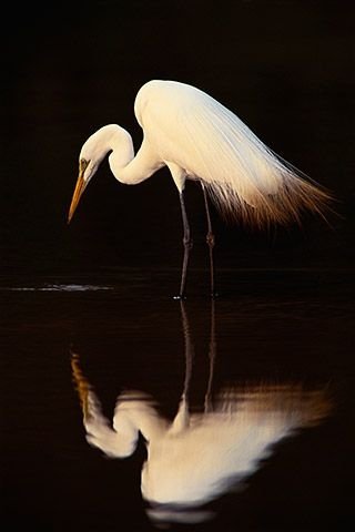
[[[140,119],[160,157],[202,180],[223,214],[261,224],[286,222],[297,219],[300,209],[320,211],[326,201],[324,192],[204,92],[152,82],[144,95]]]

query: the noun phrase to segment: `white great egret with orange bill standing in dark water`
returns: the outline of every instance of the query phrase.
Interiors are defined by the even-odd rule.
[[[322,215],[329,194],[271,151],[235,114],[201,90],[176,81],[145,83],[134,103],[143,142],[134,156],[131,135],[116,124],[104,125],[83,144],[79,177],[68,223],[105,155],[114,177],[135,185],[168,166],[178,187],[184,257],[179,297],[184,297],[192,237],[184,204],[186,178],[200,181],[204,195],[210,248],[211,293],[214,264],[207,194],[221,213],[248,225],[300,223],[303,211]]]

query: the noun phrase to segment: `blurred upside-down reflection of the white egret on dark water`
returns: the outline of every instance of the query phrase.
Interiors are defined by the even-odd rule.
[[[305,391],[300,386],[231,386],[214,393],[212,400],[210,378],[204,411],[191,413],[192,342],[183,304],[181,309],[186,372],[178,413],[171,422],[160,416],[148,396],[126,392],[118,398],[111,428],[81,372],[79,356],[72,357],[88,441],[110,457],[124,458],[133,453],[139,432],[144,437],[148,458],[141,489],[151,504],[150,516],[158,521],[207,519],[210,512],[199,510],[202,504],[244,481],[275,443],[317,423],[328,411],[323,391]],[[211,338],[211,372],[214,346]]]

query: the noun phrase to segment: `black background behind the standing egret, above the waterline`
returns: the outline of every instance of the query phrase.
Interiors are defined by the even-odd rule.
[[[140,86],[195,84],[337,198],[327,227],[305,219],[253,234],[213,212],[220,267],[344,269],[354,265],[354,8],[345,1],[95,1],[10,7],[3,28],[3,278],[180,266],[181,219],[168,170],[139,186],[104,162],[70,227],[79,151],[105,123],[133,136]],[[204,267],[199,187],[187,208]]]

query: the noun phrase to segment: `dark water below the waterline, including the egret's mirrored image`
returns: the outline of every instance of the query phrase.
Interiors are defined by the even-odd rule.
[[[1,290],[8,530],[109,532],[119,519],[134,532],[311,531],[345,519],[345,289],[304,273],[277,291],[250,273],[237,294],[180,305],[171,272],[133,274]]]

